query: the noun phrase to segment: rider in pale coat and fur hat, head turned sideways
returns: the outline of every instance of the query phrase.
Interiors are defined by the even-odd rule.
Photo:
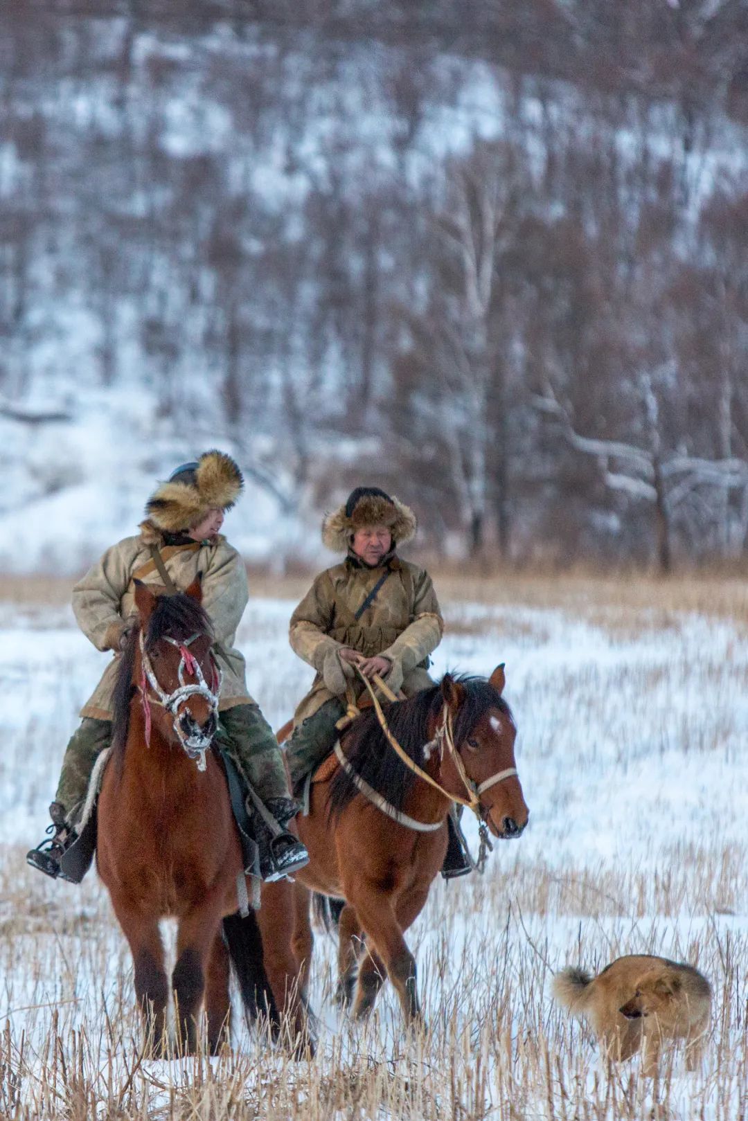
[[[112,650],[91,698],[81,711],[83,721],[67,744],[55,800],[49,807],[52,834],[27,856],[47,876],[72,879],[61,859],[76,839],[94,762],[112,736],[112,696],[124,645],[135,613],[135,580],[160,590],[184,591],[202,574],[202,605],[215,634],[213,654],[222,673],[219,734],[244,781],[279,823],[277,835],[255,814],[260,874],[279,879],[307,863],[304,845],[285,830],[297,809],[289,798],[278,743],[258,705],[247,692],[244,659],[234,634],[248,600],[247,572],[241,557],[219,530],[227,510],[243,487],[239,467],[223,452],[206,452],[185,463],[161,483],[146,507],[147,520],[136,537],[126,537],[73,589],[73,611],[83,633],[99,650]]]

